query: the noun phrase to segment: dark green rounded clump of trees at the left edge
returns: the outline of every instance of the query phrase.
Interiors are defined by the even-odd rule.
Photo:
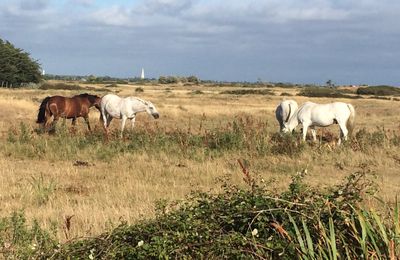
[[[42,79],[40,64],[29,55],[9,41],[0,39],[1,87],[19,87]]]

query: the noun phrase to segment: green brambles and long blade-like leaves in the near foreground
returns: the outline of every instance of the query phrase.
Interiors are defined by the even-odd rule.
[[[193,193],[156,204],[156,217],[121,224],[98,237],[60,244],[23,214],[0,221],[6,258],[28,259],[395,259],[400,254],[399,204],[377,213],[362,200],[375,186],[366,169],[326,190],[293,175],[287,191],[260,184],[239,161],[247,188],[224,182],[221,193]],[[68,220],[67,220],[68,221]],[[68,229],[68,223],[66,223]]]

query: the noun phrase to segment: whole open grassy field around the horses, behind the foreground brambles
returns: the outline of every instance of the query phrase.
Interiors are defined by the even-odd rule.
[[[218,191],[221,178],[242,184],[237,159],[247,160],[252,174],[278,190],[288,185],[293,173],[303,169],[308,170],[308,183],[322,187],[367,168],[375,174],[383,200],[391,203],[400,194],[399,145],[390,142],[352,149],[324,141],[307,144],[298,155],[269,152],[268,141],[278,130],[274,110],[283,98],[280,94],[295,95],[298,89],[271,88],[275,95],[232,95],[220,92],[233,87],[201,85],[144,85],[140,86],[144,92],[138,93],[137,85],[120,85],[109,91],[104,86],[91,87],[87,91],[0,89],[1,216],[23,210],[28,219],[38,219],[45,228],[55,227],[61,240],[99,234],[121,221],[134,223],[154,216],[154,203],[160,199],[183,199],[193,190]],[[83,92],[115,92],[148,99],[156,105],[160,119],[140,114],[135,129],[131,130],[127,122],[124,140],[114,136],[108,143],[94,108],[90,113],[95,126],[92,134],[82,118],[75,131],[70,130],[70,121],[66,128],[60,122],[56,135],[35,131],[37,109],[44,97]],[[398,101],[290,98],[299,104],[306,100],[352,103],[357,111],[355,132],[365,128],[368,133],[384,133],[389,139],[400,136]],[[235,122],[239,122],[240,133],[263,138],[257,139],[257,144],[267,147],[268,152],[245,145],[213,150],[187,142],[188,135],[211,133],[212,137],[231,129]],[[115,132],[119,123],[114,120],[111,124]],[[337,125],[318,130],[320,136],[333,133],[337,137],[338,132]],[[165,143],[159,143],[159,137],[165,137]],[[137,140],[143,141],[143,148],[135,144]],[[67,230],[65,219],[71,216]]]

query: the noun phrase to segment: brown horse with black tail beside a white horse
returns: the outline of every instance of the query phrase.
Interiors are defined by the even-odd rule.
[[[72,119],[72,125],[75,125],[77,117],[83,117],[88,125],[89,131],[91,131],[89,124],[89,108],[95,106],[100,110],[100,102],[100,97],[87,93],[76,95],[71,98],[62,96],[46,97],[40,104],[36,123],[43,124],[46,128],[50,118],[53,116],[52,127],[55,128],[60,117]]]

